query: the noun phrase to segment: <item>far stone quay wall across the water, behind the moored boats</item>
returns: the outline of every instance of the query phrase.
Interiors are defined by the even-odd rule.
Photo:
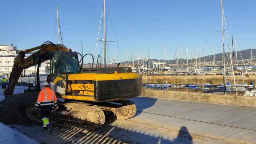
[[[142,76],[142,82],[146,83],[146,79],[148,79],[148,83],[172,83],[172,84],[223,84],[223,75],[197,75],[197,76],[164,76],[164,75],[156,75],[156,76]],[[231,83],[230,76],[226,77],[226,80]],[[233,78],[232,78],[233,79]],[[251,81],[256,83],[256,76],[238,76],[235,75],[236,82],[238,83],[250,83]],[[233,81],[233,80],[232,80]],[[234,82],[232,82],[234,83]]]

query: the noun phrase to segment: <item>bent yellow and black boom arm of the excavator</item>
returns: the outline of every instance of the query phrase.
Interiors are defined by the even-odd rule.
[[[29,52],[32,52],[35,50],[37,51],[31,54],[30,56],[28,56],[27,58],[25,58],[25,54],[28,54]],[[14,60],[14,65],[12,67],[12,72],[10,73],[8,86],[6,90],[4,90],[4,95],[8,96],[13,93],[14,87],[17,84],[18,79],[20,78],[20,75],[24,69],[29,68],[31,66],[35,66],[36,64],[40,64],[41,62],[44,62],[46,60],[49,60],[47,58],[44,58],[43,60],[39,60],[39,58],[43,54],[46,54],[47,52],[53,52],[53,51],[63,52],[63,51],[71,51],[71,49],[68,49],[63,45],[54,44],[50,41],[47,41],[41,46],[26,49],[25,51],[20,51]]]

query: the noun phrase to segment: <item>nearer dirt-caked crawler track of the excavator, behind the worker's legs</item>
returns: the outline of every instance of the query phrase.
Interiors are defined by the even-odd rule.
[[[40,112],[34,110],[34,104],[26,107],[28,118],[41,122]],[[50,123],[62,127],[77,126],[87,130],[100,128],[105,123],[102,109],[85,104],[63,103],[58,110],[52,110]]]

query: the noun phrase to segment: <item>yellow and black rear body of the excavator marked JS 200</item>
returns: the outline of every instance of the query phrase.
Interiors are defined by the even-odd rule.
[[[57,83],[62,78],[56,78]],[[105,102],[134,98],[141,94],[139,73],[82,73],[68,74],[67,92],[62,98],[70,100]]]

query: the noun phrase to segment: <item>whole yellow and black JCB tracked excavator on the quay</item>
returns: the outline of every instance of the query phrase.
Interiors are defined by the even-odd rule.
[[[25,58],[25,54],[35,50],[37,51]],[[81,60],[78,60],[78,55],[82,57]],[[58,102],[58,110],[52,110],[52,122],[72,123],[95,129],[101,127],[105,118],[110,115],[122,120],[134,117],[136,106],[127,99],[141,94],[141,75],[132,73],[129,67],[101,68],[99,63],[97,67],[93,67],[92,55],[91,67],[82,68],[84,56],[50,41],[41,46],[20,51],[15,58],[4,94],[11,95],[22,71],[36,65],[35,90],[39,91],[40,66],[42,62],[50,60],[47,81],[50,88],[56,92],[56,96],[65,99],[64,102]],[[29,104],[26,107],[27,116],[39,120],[39,113],[33,111],[33,105]]]

